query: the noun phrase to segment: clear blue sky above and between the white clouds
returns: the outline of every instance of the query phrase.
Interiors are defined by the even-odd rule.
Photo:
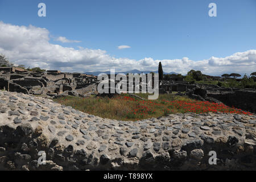
[[[46,3],[46,17],[38,16],[40,2]],[[208,15],[208,5],[212,2],[217,5],[217,17]],[[212,56],[224,59],[237,52],[256,49],[255,0],[0,0],[0,21],[19,27],[32,25],[46,28],[49,32],[49,44],[58,44],[61,47],[74,49],[81,49],[81,47],[89,50],[101,49],[105,52],[100,55],[108,55],[109,59],[144,60],[144,62],[141,61],[144,64],[136,65],[137,69],[154,70],[157,64],[152,62],[152,67],[150,67],[150,61],[169,60],[166,63],[167,71],[174,71],[174,68],[170,66],[171,60],[182,60],[187,57],[196,62],[209,60]],[[56,41],[60,36],[79,42]],[[118,49],[118,46],[123,45],[130,48]],[[10,53],[10,50],[2,49],[3,53]],[[21,62],[20,58],[18,59],[13,54],[8,56],[15,63]],[[150,61],[146,63],[145,58]],[[74,59],[77,58],[68,59],[74,63],[72,65],[75,65]],[[243,58],[241,59],[243,60]],[[56,58],[49,59],[48,63],[41,66],[46,68],[50,65],[53,66],[50,63],[53,60]],[[81,61],[79,60],[78,64],[82,64]],[[84,63],[86,61],[88,60],[84,60]],[[96,63],[97,61],[93,60],[94,64],[92,64],[92,60],[90,60],[89,64],[97,66],[101,65],[101,61],[98,60]],[[176,62],[174,61],[174,64]],[[216,67],[217,62],[215,62],[212,65]],[[250,64],[250,67],[255,68],[254,56],[250,62],[253,63]],[[29,63],[36,65],[31,60],[26,62],[26,64]],[[183,61],[183,63],[187,62]],[[109,67],[113,67],[113,64],[110,63]],[[122,63],[119,61],[115,63],[114,67],[121,70],[131,68],[129,65],[122,67],[119,64]],[[84,69],[96,71],[94,67],[85,67],[80,70],[72,65],[68,65],[68,67],[72,67],[73,71],[83,71]],[[197,66],[193,63],[193,67],[188,69],[190,68],[197,68]],[[205,66],[198,68],[203,69],[201,70],[203,72],[208,71]],[[65,68],[65,65],[61,69],[72,71],[71,68]],[[102,69],[108,69],[108,67],[105,65]],[[230,69],[225,68],[222,71],[232,72],[233,70]],[[176,71],[187,72],[181,68]],[[212,73],[216,75],[221,72],[217,72],[216,69]]]

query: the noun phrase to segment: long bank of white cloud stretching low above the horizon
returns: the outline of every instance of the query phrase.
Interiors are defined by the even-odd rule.
[[[190,60],[188,57],[174,60],[154,60],[145,57],[141,60],[113,57],[100,49],[63,47],[49,43],[50,35],[46,28],[34,26],[14,26],[0,22],[0,53],[9,57],[14,64],[43,69],[59,69],[64,72],[119,71],[140,69],[158,70],[162,62],[164,72],[186,74],[191,69],[208,75],[237,72],[247,75],[256,71],[256,50],[237,52],[226,57],[210,57],[205,60]]]

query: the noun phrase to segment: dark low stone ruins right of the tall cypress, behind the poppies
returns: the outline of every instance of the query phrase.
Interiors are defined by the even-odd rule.
[[[171,92],[256,113],[255,89],[223,88],[218,85],[189,84],[186,81],[160,81],[159,93]]]

